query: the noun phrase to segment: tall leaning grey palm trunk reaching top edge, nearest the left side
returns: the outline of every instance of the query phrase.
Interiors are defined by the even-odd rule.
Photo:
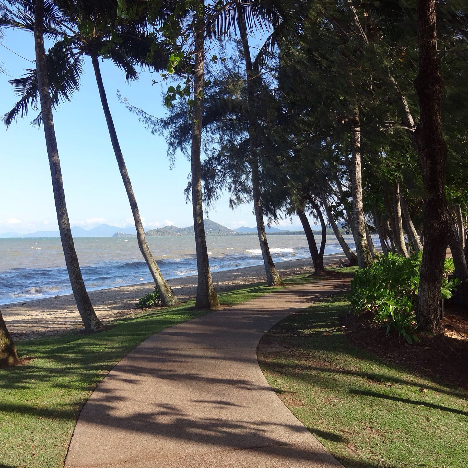
[[[44,50],[43,37],[44,0],[36,2],[36,17],[34,26],[34,43],[36,48],[37,86],[41,102],[42,120],[44,124],[45,144],[51,168],[52,189],[54,194],[55,208],[57,210],[57,220],[59,222],[60,239],[62,241],[63,253],[65,256],[66,268],[73,295],[75,297],[78,312],[90,332],[104,329],[102,323],[97,318],[88,292],[81,276],[80,264],[76,255],[73,242],[70,220],[66,210],[65,191],[63,189],[62,171],[60,168],[59,151],[57,139],[55,137],[54,121],[52,116],[51,96],[49,94],[49,81],[47,78],[47,63]]]

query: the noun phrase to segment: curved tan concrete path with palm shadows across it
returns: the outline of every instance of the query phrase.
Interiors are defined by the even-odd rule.
[[[341,467],[268,385],[256,347],[275,323],[348,284],[288,287],[151,336],[83,407],[65,467]]]

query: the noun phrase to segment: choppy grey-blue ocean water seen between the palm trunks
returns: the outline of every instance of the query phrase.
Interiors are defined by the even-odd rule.
[[[344,237],[354,249],[352,236]],[[305,236],[271,235],[268,240],[275,262],[310,257]],[[89,291],[152,281],[136,238],[74,241]],[[147,241],[166,279],[197,274],[193,237],[148,237]],[[263,264],[256,235],[207,236],[206,241],[212,271]],[[319,236],[316,241],[320,243]],[[379,245],[375,239],[374,243]],[[341,251],[336,238],[329,235],[325,254]],[[0,304],[71,292],[59,238],[0,239]]]

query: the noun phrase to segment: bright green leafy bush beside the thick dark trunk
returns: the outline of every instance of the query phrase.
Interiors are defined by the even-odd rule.
[[[371,266],[359,270],[351,281],[350,301],[355,314],[371,312],[374,320],[390,331],[400,333],[408,341],[418,341],[416,336],[416,307],[419,271],[422,252],[409,258],[389,253]],[[453,260],[447,258],[440,298],[452,297],[460,284],[458,279],[448,279],[453,273]]]

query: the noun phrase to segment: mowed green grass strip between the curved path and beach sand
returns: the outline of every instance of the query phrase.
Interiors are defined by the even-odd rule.
[[[254,285],[220,295],[233,306],[277,288]],[[96,335],[72,334],[17,344],[28,364],[0,369],[0,467],[61,467],[80,409],[93,389],[147,337],[208,311],[194,302],[112,322]],[[90,441],[92,443],[92,441]]]

